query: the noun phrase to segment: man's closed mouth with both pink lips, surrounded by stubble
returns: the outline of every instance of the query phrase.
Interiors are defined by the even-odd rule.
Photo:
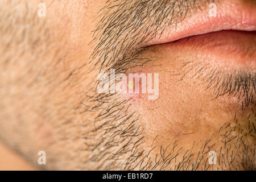
[[[207,57],[225,69],[255,71],[256,5],[248,5],[218,3],[215,15],[209,15],[209,10],[191,15],[157,34],[145,46],[163,46],[165,51],[174,46],[177,50],[190,48],[187,54],[191,58],[196,53],[196,57]]]

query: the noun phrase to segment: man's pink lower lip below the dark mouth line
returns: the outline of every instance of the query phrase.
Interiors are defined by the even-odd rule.
[[[189,47],[191,54],[210,56],[214,63],[225,68],[256,69],[256,31],[211,32],[162,45],[181,49]]]

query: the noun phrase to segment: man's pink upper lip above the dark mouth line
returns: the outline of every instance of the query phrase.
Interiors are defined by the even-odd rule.
[[[221,30],[256,31],[255,8],[256,6],[247,7],[237,3],[218,4],[215,17],[209,16],[207,11],[197,13],[191,18],[184,19],[175,27],[166,28],[161,36],[156,36],[144,46],[169,43],[189,36]],[[174,31],[170,32],[170,30]]]

